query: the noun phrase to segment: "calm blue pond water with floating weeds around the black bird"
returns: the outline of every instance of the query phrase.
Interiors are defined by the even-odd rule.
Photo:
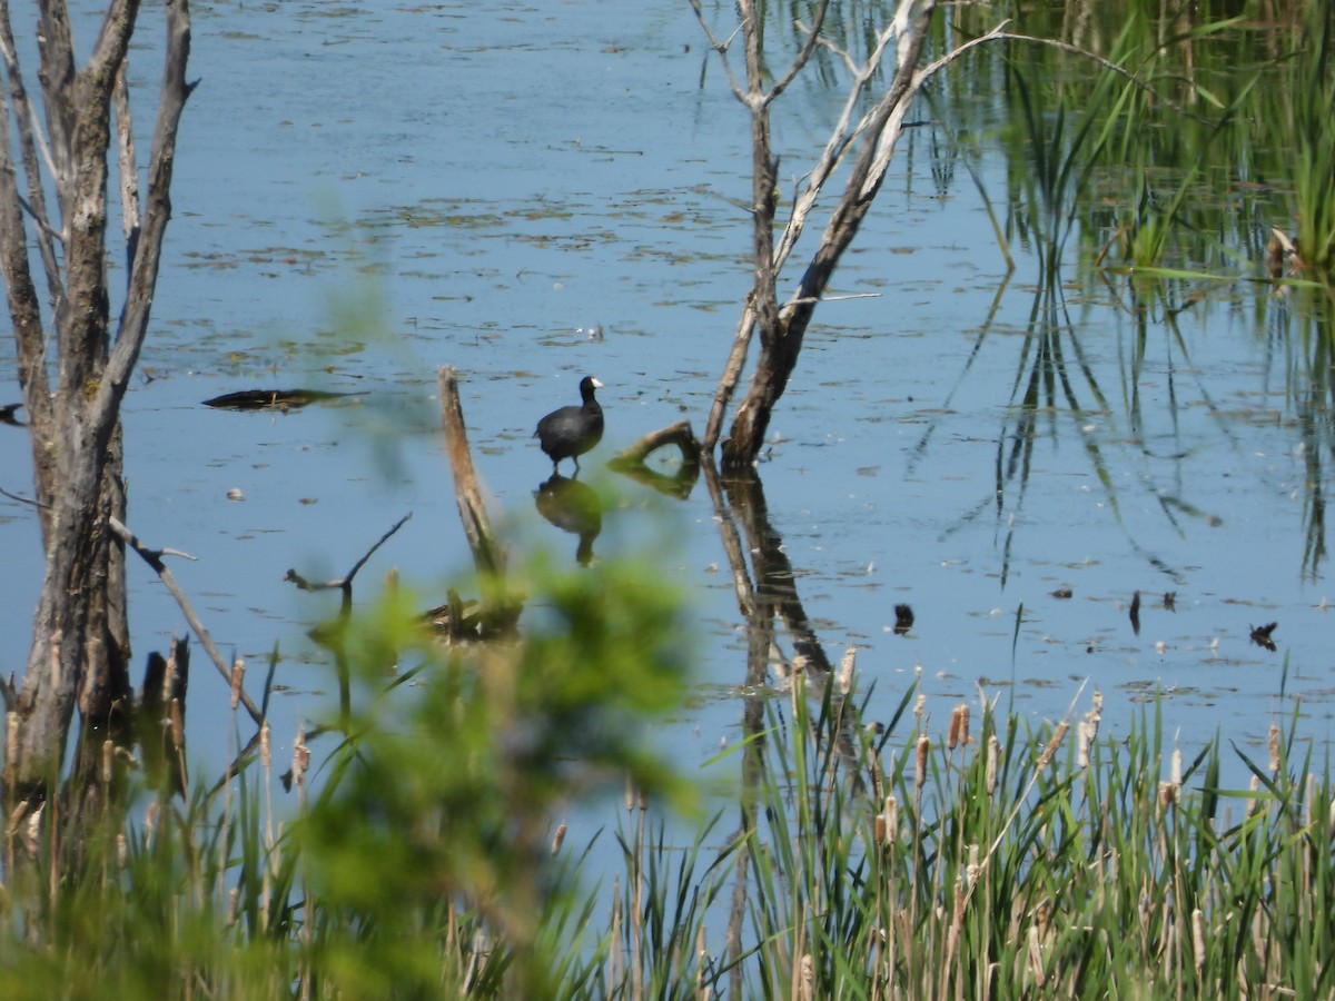
[[[155,44],[136,72],[156,73]],[[968,72],[996,72],[989,59]],[[789,187],[841,100],[837,64],[821,69],[777,123]],[[191,76],[154,330],[127,398],[129,519],[151,546],[196,557],[174,573],[224,654],[252,675],[279,658],[276,742],[335,690],[304,634],[336,602],[296,591],[288,569],[346,573],[411,511],[359,597],[398,567],[439,603],[469,573],[441,364],[462,374],[494,514],[571,566],[577,539],[534,507],[550,463],[531,435],[577,402],[581,376],[605,383],[606,436],[581,475],[609,509],[594,553],[654,553],[700,625],[700,697],[662,739],[686,765],[740,739],[745,619],[709,491],[669,502],[605,468],[678,419],[704,430],[750,282],[746,119],[689,5],[198,4]],[[834,662],[857,647],[872,715],[920,679],[940,726],[980,691],[1037,723],[1087,682],[1080,711],[1100,690],[1115,733],[1161,694],[1184,743],[1256,745],[1298,698],[1302,734],[1326,742],[1315,452],[1328,438],[1312,427],[1330,400],[1303,379],[1307,339],[1314,334],[1302,296],[1255,283],[1259,260],[1136,300],[1125,275],[1089,267],[1087,235],[1045,279],[1040,242],[1015,226],[1023,188],[1000,127],[969,141],[930,121],[906,136],[770,426],[769,527],[822,647]],[[202,406],[252,387],[355,395],[290,412]],[[0,404],[17,398],[7,346]],[[0,426],[7,490],[25,487],[27,448]],[[0,550],[11,673],[41,554],[9,499]],[[131,575],[142,657],[184,625],[146,567]],[[897,605],[914,613],[902,634]],[[1274,650],[1251,637],[1271,622]],[[227,693],[198,663],[192,751],[222,761]]]

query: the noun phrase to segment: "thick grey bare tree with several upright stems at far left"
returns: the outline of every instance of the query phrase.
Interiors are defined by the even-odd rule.
[[[88,61],[75,64],[64,0],[39,1],[45,133],[21,76],[8,0],[0,0],[0,49],[7,69],[0,123],[0,274],[17,343],[19,382],[32,435],[45,575],[21,689],[5,689],[9,806],[40,801],[59,778],[77,705],[84,746],[100,755],[101,735],[127,742],[131,686],[124,549],[109,519],[124,521],[120,402],[139,359],[163,235],[176,131],[191,85],[187,0],[166,0],[167,45],[158,103],[148,195],[139,211],[138,167],[124,61],[138,0],[111,0]],[[115,125],[124,211],[128,287],[112,328],[107,287],[107,183]],[[17,127],[19,170],[9,121]],[[43,172],[44,171],[44,172]],[[56,195],[51,218],[43,195]],[[36,242],[45,274],[45,308],[27,246]],[[59,244],[59,252],[57,252]],[[44,314],[51,330],[44,330]],[[55,348],[51,354],[52,347]],[[83,755],[81,755],[83,757]],[[81,769],[80,769],[81,770]]]

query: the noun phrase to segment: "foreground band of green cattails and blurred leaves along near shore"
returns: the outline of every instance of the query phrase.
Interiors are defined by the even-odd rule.
[[[650,606],[625,625],[663,633]],[[262,751],[230,791],[146,790],[147,811],[89,837],[77,870],[39,838],[5,886],[4,996],[1335,992],[1335,790],[1296,710],[1260,754],[1218,737],[1185,753],[1159,703],[1109,737],[1097,693],[1029,730],[981,693],[937,723],[909,689],[880,729],[856,686],[798,674],[708,766],[741,765],[734,806],[700,819],[633,767],[615,845],[571,846],[553,818],[606,769],[587,770],[593,754],[535,767],[542,741],[517,751],[497,726],[526,703],[527,670],[558,706],[553,663],[585,677],[563,642],[602,641],[551,627],[535,645],[551,659],[509,654],[513,685],[433,661],[400,715],[358,718],[318,790],[296,741],[284,822],[270,794],[283,762]],[[589,711],[615,729],[591,721],[618,710]],[[1220,786],[1224,754],[1248,787]]]

